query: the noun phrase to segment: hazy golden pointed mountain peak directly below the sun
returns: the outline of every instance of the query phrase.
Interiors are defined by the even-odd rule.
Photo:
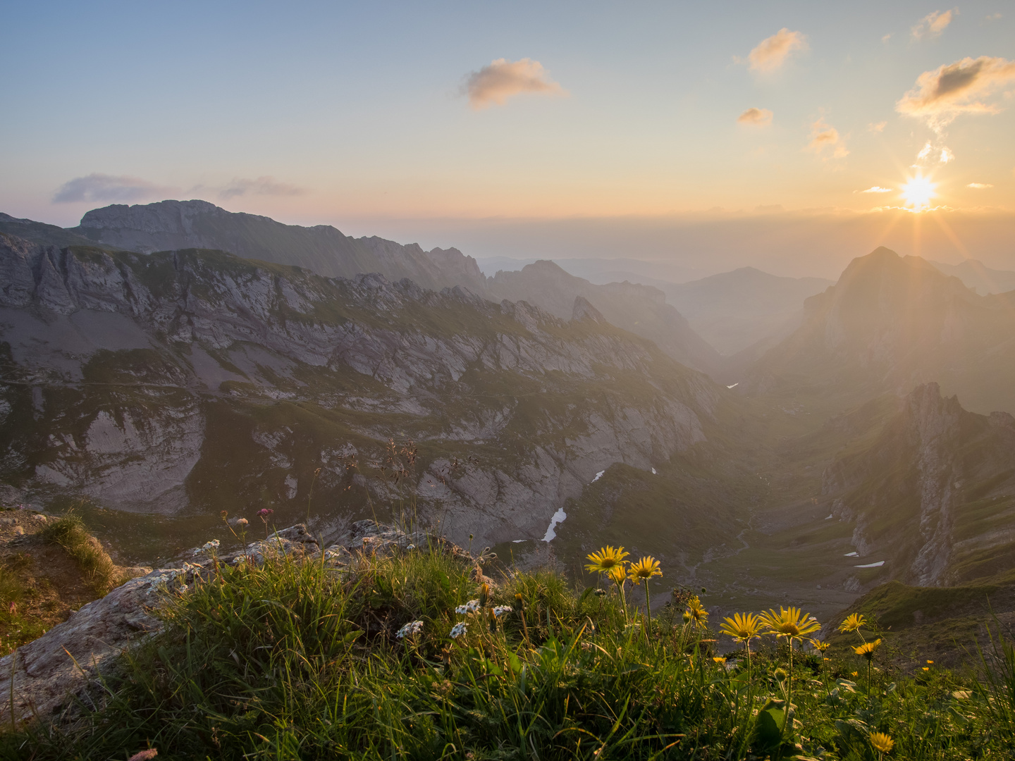
[[[984,414],[1015,412],[1015,313],[920,257],[878,249],[805,302],[801,327],[765,354],[743,389],[801,385],[843,406],[939,383]]]

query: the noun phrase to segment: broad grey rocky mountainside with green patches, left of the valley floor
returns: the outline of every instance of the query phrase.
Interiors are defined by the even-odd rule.
[[[0,282],[0,476],[120,509],[409,499],[459,540],[539,538],[610,464],[702,440],[726,394],[582,301],[564,322],[377,274],[2,235]]]

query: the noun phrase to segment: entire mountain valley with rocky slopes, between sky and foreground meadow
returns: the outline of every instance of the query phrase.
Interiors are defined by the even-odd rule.
[[[654,607],[704,587],[717,612],[827,617],[890,580],[1011,569],[1005,294],[883,249],[834,285],[487,277],[456,250],[176,203],[0,220],[0,476],[123,562],[268,507],[326,536],[409,522],[586,582],[619,543],[666,569]],[[671,298],[762,337],[724,356]]]

